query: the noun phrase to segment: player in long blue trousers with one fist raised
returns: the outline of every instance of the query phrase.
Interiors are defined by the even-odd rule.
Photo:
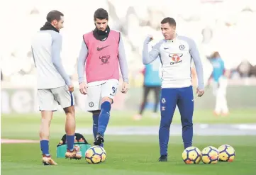
[[[161,93],[161,122],[159,129],[160,162],[167,161],[169,128],[176,106],[182,120],[182,139],[184,149],[192,146],[194,95],[191,84],[191,61],[194,60],[198,77],[196,94],[204,95],[204,73],[194,40],[177,35],[174,18],[164,18],[161,21],[162,35],[150,52],[148,44],[152,36],[145,39],[143,47],[143,64],[160,57],[162,62],[162,93]]]

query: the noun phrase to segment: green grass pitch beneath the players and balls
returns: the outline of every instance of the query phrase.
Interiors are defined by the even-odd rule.
[[[195,111],[194,123],[256,123],[256,111],[231,111],[228,117],[215,117],[212,111]],[[109,126],[159,125],[160,118],[145,118],[133,121],[132,112],[114,112]],[[182,160],[182,137],[169,138],[168,162],[157,162],[159,155],[157,135],[105,136],[106,162],[87,164],[79,161],[56,158],[56,145],[64,132],[64,114],[56,113],[50,128],[50,153],[57,166],[43,166],[38,143],[1,144],[1,174],[150,174],[150,175],[240,175],[256,174],[256,136],[195,136],[194,146],[203,149],[212,145],[232,145],[236,151],[235,161],[218,164],[184,164]],[[77,128],[91,128],[89,114],[77,114]],[[173,123],[180,123],[179,115]],[[1,115],[1,138],[38,140],[40,115]],[[172,127],[172,126],[171,126]],[[92,143],[92,135],[84,135]]]

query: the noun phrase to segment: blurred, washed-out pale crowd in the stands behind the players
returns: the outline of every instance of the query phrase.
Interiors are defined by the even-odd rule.
[[[237,69],[240,77],[255,75],[256,59],[252,55],[256,40],[256,26],[251,23],[256,21],[256,6],[252,1],[240,1],[235,5],[233,1],[218,1],[215,4],[211,1],[191,0],[189,6],[185,7],[187,11],[178,10],[183,8],[184,1],[180,0],[150,0],[143,6],[140,1],[58,2],[52,1],[51,7],[48,6],[47,1],[38,3],[30,1],[30,4],[26,5],[19,2],[13,9],[15,12],[11,13],[9,18],[3,18],[3,23],[17,21],[17,23],[9,23],[9,28],[3,28],[0,33],[1,71],[5,80],[12,82],[13,77],[18,76],[21,81],[23,79],[35,81],[33,78],[35,71],[30,54],[30,38],[40,28],[40,23],[45,21],[45,13],[52,8],[58,8],[67,14],[65,28],[61,32],[63,37],[61,56],[69,75],[76,74],[75,57],[79,54],[81,36],[94,26],[91,16],[99,4],[109,11],[111,28],[120,30],[122,33],[128,65],[134,65],[129,66],[130,81],[135,79],[133,75],[143,67],[140,57],[145,35],[155,35],[160,30],[160,21],[166,16],[177,18],[179,35],[188,35],[193,38],[200,45],[199,52],[204,52],[204,56],[210,55],[213,50],[218,50],[223,55],[226,66],[229,69]],[[21,4],[24,8],[18,8]],[[160,4],[166,4],[166,7]],[[177,8],[169,11],[167,6],[172,4],[175,4]],[[12,1],[6,1],[4,5],[6,8],[0,11],[1,16],[5,16],[8,9],[13,8]],[[83,9],[84,6],[87,6],[86,11]],[[218,14],[214,13],[216,10]],[[31,21],[33,25],[30,25]],[[82,21],[79,28],[75,27],[77,21]],[[20,31],[22,35],[16,33],[16,26],[23,26]],[[239,42],[234,42],[233,38]],[[244,57],[247,58],[247,62],[243,61]]]

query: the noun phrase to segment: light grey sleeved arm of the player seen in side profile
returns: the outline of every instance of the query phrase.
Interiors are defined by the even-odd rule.
[[[62,79],[65,80],[67,86],[72,86],[72,82],[65,72],[65,69],[62,65],[62,60],[60,58],[60,52],[62,49],[62,36],[56,35],[56,38],[52,40],[52,64],[54,65],[57,72],[60,73]]]

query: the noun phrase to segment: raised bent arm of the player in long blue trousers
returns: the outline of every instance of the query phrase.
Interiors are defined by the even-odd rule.
[[[151,40],[152,40],[152,36],[148,36],[144,41],[144,45],[143,45],[143,64],[150,64],[155,59],[157,59],[157,57],[160,54],[159,50],[160,50],[160,45],[162,43],[157,43],[153,47],[153,49],[150,52],[148,52],[148,44],[150,43]]]

